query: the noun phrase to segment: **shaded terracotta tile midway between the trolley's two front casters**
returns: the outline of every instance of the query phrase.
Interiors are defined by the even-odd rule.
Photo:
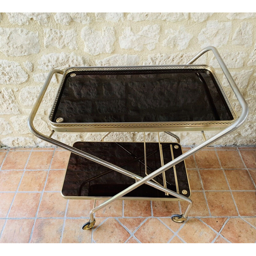
[[[124,217],[151,216],[150,201],[124,200]]]

